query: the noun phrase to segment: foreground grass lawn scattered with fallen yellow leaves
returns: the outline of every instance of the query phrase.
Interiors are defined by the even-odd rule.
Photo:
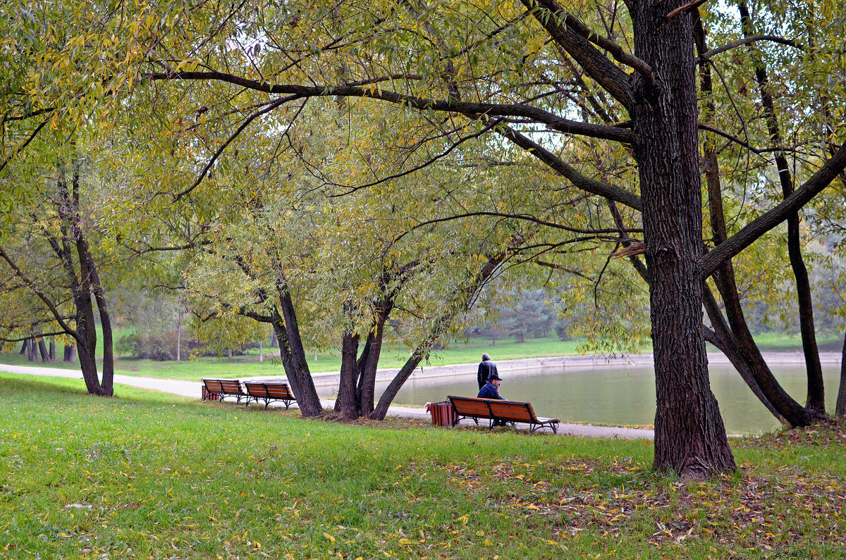
[[[0,373],[0,557],[842,557],[846,425],[651,472],[650,442],[302,420]]]

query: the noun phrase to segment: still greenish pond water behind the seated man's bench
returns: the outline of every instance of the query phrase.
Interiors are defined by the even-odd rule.
[[[760,433],[779,427],[749,387],[729,365],[711,365],[711,389],[720,404],[729,433]],[[805,402],[805,365],[773,366],[784,389]],[[839,382],[839,365],[823,365],[827,408],[834,409]],[[563,422],[588,424],[646,425],[655,421],[655,376],[651,366],[610,365],[594,368],[545,368],[542,372],[500,372],[505,398],[529,401],[539,416]],[[384,387],[377,387],[381,391]],[[470,375],[415,379],[400,390],[394,404],[442,401],[447,395],[475,397],[475,368]]]

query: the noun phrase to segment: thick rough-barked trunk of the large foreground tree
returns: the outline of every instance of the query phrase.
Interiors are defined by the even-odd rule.
[[[656,371],[655,468],[702,478],[735,469],[702,333],[698,111],[688,14],[676,2],[630,2],[641,79],[631,108],[636,135]],[[672,81],[671,81],[672,80]]]

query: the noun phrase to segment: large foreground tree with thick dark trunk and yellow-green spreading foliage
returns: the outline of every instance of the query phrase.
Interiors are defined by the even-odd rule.
[[[779,28],[784,33],[794,32],[792,22],[837,29],[832,25],[840,17],[836,3],[823,1],[813,9],[772,4],[760,5],[786,22]],[[702,53],[711,64],[732,64],[731,51],[773,42],[785,47],[786,72],[814,70],[802,74],[807,81],[786,82],[800,89],[805,101],[804,111],[791,113],[792,122],[813,123],[842,111],[843,84],[827,82],[825,72],[840,63],[838,33],[816,35],[813,47],[794,49],[784,45],[796,42],[789,37],[744,37],[722,9],[683,0],[624,5],[353,1],[228,8],[202,3],[190,9],[161,2],[123,8],[119,17],[105,14],[80,25],[74,41],[37,64],[41,74],[30,74],[49,77],[64,68],[63,61],[74,69],[87,64],[90,69],[80,71],[73,84],[81,82],[102,96],[153,91],[159,103],[181,107],[182,115],[170,122],[174,134],[195,135],[186,144],[184,165],[195,169],[196,178],[184,188],[161,189],[171,200],[190,197],[218,167],[237,165],[239,135],[268,115],[286,120],[280,141],[300,124],[307,129],[307,121],[300,123],[299,112],[289,107],[314,97],[346,98],[374,118],[383,118],[386,106],[398,119],[416,114],[420,125],[388,140],[385,149],[399,146],[410,153],[446,139],[445,156],[469,137],[485,137],[525,151],[546,167],[555,176],[550,196],[569,191],[573,200],[606,200],[603,219],[612,227],[593,226],[591,232],[616,233],[612,243],[622,246],[619,254],[633,264],[640,262],[639,254],[645,257],[645,265],[634,266],[650,290],[656,469],[705,476],[734,468],[709,387],[703,284],[825,189],[846,165],[846,145],[841,118],[828,119],[829,128],[797,128],[806,135],[806,149],[796,167],[794,192],[779,202],[759,199],[758,216],[749,222],[744,216],[744,225],[718,246],[703,239],[700,129],[705,125],[697,98],[695,15],[706,27],[722,30],[721,36],[732,37],[712,48],[717,52]],[[103,44],[111,46],[109,56],[102,56]],[[716,56],[727,52],[728,60]],[[760,105],[736,104],[728,97],[726,102],[743,123],[766,122],[755,113]],[[230,132],[211,142],[203,131],[209,123],[228,123]],[[772,145],[772,135],[737,135],[730,120],[707,127],[742,152],[719,151],[728,161],[743,159],[744,153],[783,151]],[[766,140],[764,148],[750,143],[758,139]],[[592,149],[575,149],[584,145]],[[425,173],[427,167],[409,160],[398,173]],[[750,185],[763,173],[755,167],[720,168],[727,181],[742,173]],[[563,218],[549,217],[550,222]]]

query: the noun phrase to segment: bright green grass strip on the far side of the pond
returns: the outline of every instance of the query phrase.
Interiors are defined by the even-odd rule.
[[[761,350],[765,352],[799,352],[802,342],[798,336],[789,337],[782,333],[765,333],[755,337]],[[843,348],[843,338],[838,336],[821,337],[818,340],[821,351],[839,352]],[[565,356],[578,354],[576,347],[579,342],[563,342],[556,337],[527,338],[524,343],[514,339],[497,340],[492,345],[490,340],[475,338],[467,343],[456,342],[448,349],[432,354],[431,365],[474,364],[481,360],[482,353],[491,354],[492,360],[519,360],[521,358],[541,358],[547,356]],[[709,347],[710,348],[710,347]],[[267,356],[272,349],[265,349]],[[647,349],[648,351],[648,349]],[[58,351],[59,352],[59,351]],[[385,348],[379,366],[383,368],[399,368],[408,354],[404,349]],[[307,354],[312,373],[339,371],[341,368],[340,354],[325,352]],[[0,354],[0,362],[13,365],[33,365],[20,356],[17,350],[9,354]],[[43,364],[37,364],[43,365]],[[48,364],[51,367],[77,369],[75,364]],[[254,376],[283,376],[282,365],[276,359],[265,358],[258,361],[258,350],[251,350],[248,354],[226,357],[201,357],[183,361],[153,361],[118,358],[116,370],[120,374],[130,376],[159,377],[162,379],[181,379],[184,381],[200,381],[203,377],[254,377]]]

